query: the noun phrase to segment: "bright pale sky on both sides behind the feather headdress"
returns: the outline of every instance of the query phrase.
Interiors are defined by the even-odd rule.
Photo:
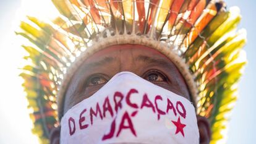
[[[242,14],[242,22],[239,28],[247,30],[247,53],[248,64],[245,67],[245,74],[239,83],[239,99],[233,110],[229,122],[228,144],[254,143],[256,142],[256,96],[254,95],[256,83],[256,18],[255,0],[226,0],[228,7],[239,6]],[[18,88],[22,80],[15,78],[19,74],[17,66],[19,62],[9,57],[20,57],[20,48],[12,42],[14,28],[17,23],[14,18],[19,13],[21,0],[0,0],[0,143],[36,143],[36,137],[30,133],[32,124],[27,116],[25,98],[19,95],[22,88]],[[7,55],[6,53],[11,55]],[[14,80],[17,82],[12,83]],[[13,91],[13,89],[15,91]],[[3,92],[4,91],[4,92]],[[16,95],[17,94],[17,95]],[[19,117],[19,118],[17,118]],[[19,121],[24,121],[20,124]]]

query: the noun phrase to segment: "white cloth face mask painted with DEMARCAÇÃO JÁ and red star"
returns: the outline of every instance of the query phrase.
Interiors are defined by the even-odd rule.
[[[61,143],[199,143],[186,98],[131,72],[116,74],[61,120]]]

